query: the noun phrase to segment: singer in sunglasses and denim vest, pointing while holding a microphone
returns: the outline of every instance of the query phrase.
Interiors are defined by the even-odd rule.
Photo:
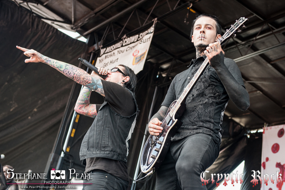
[[[80,148],[80,160],[86,165],[85,173],[92,178],[84,179],[83,183],[92,184],[84,184],[83,189],[126,190],[129,183],[126,165],[129,140],[139,112],[134,95],[137,84],[134,71],[125,65],[109,71],[98,68],[99,74],[107,75],[104,80],[94,71],[89,75],[74,65],[51,59],[32,49],[17,48],[30,57],[26,63],[43,62],[84,86],[75,111],[95,120]],[[91,91],[102,95],[105,102],[90,104]]]

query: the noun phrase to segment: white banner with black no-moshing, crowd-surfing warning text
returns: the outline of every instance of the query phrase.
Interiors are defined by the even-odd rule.
[[[130,67],[136,74],[143,70],[155,23],[156,19],[148,30],[131,37],[125,37],[114,45],[102,48],[95,66],[111,70],[122,64]]]

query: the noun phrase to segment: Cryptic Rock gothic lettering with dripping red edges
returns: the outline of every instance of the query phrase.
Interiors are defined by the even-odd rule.
[[[238,172],[238,171],[237,171]],[[253,174],[251,175],[251,177],[253,178],[250,182],[253,183],[253,186],[256,186],[258,184],[258,181],[260,181],[260,184],[262,183],[262,178],[260,177],[260,172],[259,170],[257,171],[254,171],[252,170],[251,172],[253,172]],[[202,181],[202,185],[206,185],[206,183],[209,182],[210,179],[206,180],[206,173],[209,173],[209,171],[205,171],[205,172],[202,172],[201,175],[200,175],[200,178],[201,178],[201,181]],[[232,184],[234,184],[234,182],[238,183],[238,181],[240,181],[240,183],[243,183],[243,174],[240,174],[238,175],[237,173],[234,174],[233,172],[230,173],[230,174],[211,174],[212,176],[212,183],[215,182],[214,180],[214,176],[217,175],[217,182],[216,182],[216,185],[217,187],[220,185],[220,183],[222,181],[224,181],[223,185],[226,186],[227,185],[227,181],[231,181]],[[271,174],[271,175],[268,175],[268,174],[264,174],[263,175],[263,180],[264,180],[264,183],[267,185],[267,182],[270,180],[271,183],[274,184],[274,174]],[[205,178],[205,179],[204,179]],[[222,180],[224,179],[224,180]],[[220,181],[222,180],[222,181]],[[219,182],[220,181],[220,182]],[[218,183],[219,182],[219,183]],[[279,171],[276,171],[276,182],[277,182],[277,185],[280,185],[282,186],[282,174],[279,172]]]

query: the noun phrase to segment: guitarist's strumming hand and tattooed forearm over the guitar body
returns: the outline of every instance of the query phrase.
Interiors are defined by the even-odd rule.
[[[159,111],[151,118],[151,121],[148,123],[148,132],[151,135],[159,135],[159,133],[162,132],[163,128],[160,127],[160,125],[162,124],[161,121],[164,119],[167,110],[168,107],[161,106]]]

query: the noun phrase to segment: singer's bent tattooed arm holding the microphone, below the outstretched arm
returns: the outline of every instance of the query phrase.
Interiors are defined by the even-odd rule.
[[[90,95],[91,95],[90,87],[83,87],[81,90],[74,110],[82,115],[86,115],[88,117],[95,117],[97,115],[96,104],[90,104]]]

